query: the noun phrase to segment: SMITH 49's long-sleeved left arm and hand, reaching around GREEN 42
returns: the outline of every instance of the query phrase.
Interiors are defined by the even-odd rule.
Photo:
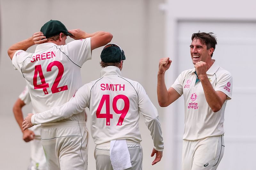
[[[87,85],[80,87],[74,97],[59,107],[54,107],[42,113],[28,114],[22,123],[22,128],[28,129],[32,125],[60,121],[83,112],[89,104],[90,91],[87,88]]]

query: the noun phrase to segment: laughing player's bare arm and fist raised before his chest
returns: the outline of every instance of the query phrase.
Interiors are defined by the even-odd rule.
[[[210,83],[206,71],[207,65],[205,62],[198,62],[195,64],[196,73],[198,78],[201,81],[201,84],[204,89],[204,95],[208,105],[211,107],[213,112],[218,112],[225,100],[227,99],[227,95],[221,91],[215,91]]]

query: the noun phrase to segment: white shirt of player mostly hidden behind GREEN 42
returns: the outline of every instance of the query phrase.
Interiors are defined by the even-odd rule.
[[[28,86],[25,87],[25,89],[20,93],[19,95],[20,100],[22,100],[26,105],[31,102]],[[32,109],[31,113],[35,113],[34,109]],[[40,136],[41,133],[41,124],[32,126],[29,128],[29,130],[32,130],[36,136]]]

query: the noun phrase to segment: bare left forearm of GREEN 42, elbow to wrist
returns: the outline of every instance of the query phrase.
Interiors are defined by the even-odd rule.
[[[33,41],[33,38],[30,37],[26,40],[17,42],[15,44],[13,44],[9,49],[8,49],[8,55],[12,60],[13,55],[15,54],[15,52],[17,50],[24,50],[26,51],[29,47],[33,46],[35,44],[35,42]]]

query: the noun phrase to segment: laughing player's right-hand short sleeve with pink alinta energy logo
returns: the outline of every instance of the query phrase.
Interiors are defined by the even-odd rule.
[[[221,91],[225,93],[228,97],[227,100],[232,98],[232,90],[233,90],[233,78],[229,72],[226,72],[219,77],[217,76],[216,86],[214,88],[215,91]]]

